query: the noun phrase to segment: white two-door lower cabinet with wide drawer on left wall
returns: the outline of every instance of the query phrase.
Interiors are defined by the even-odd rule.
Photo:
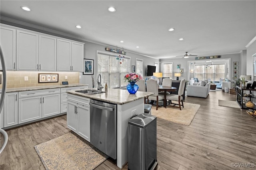
[[[19,92],[19,97],[19,123],[60,113],[60,89]]]

